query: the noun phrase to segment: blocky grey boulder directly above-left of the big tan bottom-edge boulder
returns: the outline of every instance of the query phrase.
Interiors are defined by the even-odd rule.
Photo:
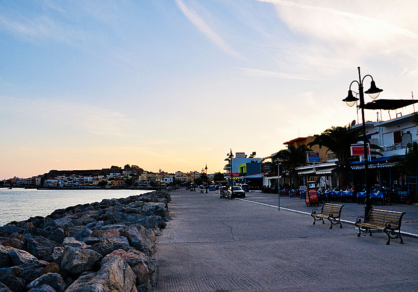
[[[94,250],[65,246],[62,253],[61,268],[72,274],[97,270],[102,255]]]

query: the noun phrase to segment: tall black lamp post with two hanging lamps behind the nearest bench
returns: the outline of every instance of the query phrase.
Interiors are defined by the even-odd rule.
[[[372,99],[376,99],[379,96],[379,94],[383,91],[383,89],[379,89],[376,87],[376,84],[371,75],[366,75],[362,79],[362,76],[360,74],[360,67],[357,67],[357,69],[359,70],[359,81],[357,80],[352,81],[352,83],[350,84],[350,88],[349,88],[349,95],[342,101],[345,101],[345,103],[350,107],[355,105],[356,101],[358,101],[359,99],[353,96],[353,93],[351,91],[351,86],[353,85],[353,83],[357,83],[357,85],[359,86],[360,108],[362,110],[362,119],[363,119],[362,129],[363,129],[363,149],[364,149],[364,177],[365,177],[364,180],[366,184],[366,200],[365,200],[366,206],[364,207],[364,216],[365,216],[365,220],[369,220],[369,213],[373,207],[372,207],[371,200],[370,200],[369,180],[367,179],[367,175],[369,171],[369,154],[367,151],[366,122],[364,119],[364,93],[363,93],[364,79],[368,76],[372,79],[372,82],[370,84],[370,89],[365,92]]]

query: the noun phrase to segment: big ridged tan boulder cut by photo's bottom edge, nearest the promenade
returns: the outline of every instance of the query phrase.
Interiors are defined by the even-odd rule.
[[[137,292],[135,274],[120,257],[105,258],[97,274],[78,278],[65,292]]]

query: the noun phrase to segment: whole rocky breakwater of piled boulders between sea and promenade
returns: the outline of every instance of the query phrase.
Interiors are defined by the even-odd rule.
[[[58,209],[0,227],[0,292],[150,291],[168,191]]]

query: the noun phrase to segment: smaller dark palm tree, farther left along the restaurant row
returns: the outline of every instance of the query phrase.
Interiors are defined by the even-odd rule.
[[[305,144],[298,145],[298,147],[289,145],[288,149],[281,150],[273,156],[271,170],[275,172],[277,164],[280,162],[284,173],[289,174],[290,187],[293,188],[294,177],[296,177],[296,168],[306,164],[307,151],[311,151],[311,149]]]

